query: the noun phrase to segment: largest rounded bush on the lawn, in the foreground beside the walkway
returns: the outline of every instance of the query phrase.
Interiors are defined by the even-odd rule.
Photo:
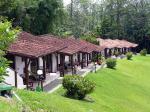
[[[63,87],[67,90],[67,96],[81,100],[94,90],[95,84],[81,76],[75,75],[65,76],[63,79]]]

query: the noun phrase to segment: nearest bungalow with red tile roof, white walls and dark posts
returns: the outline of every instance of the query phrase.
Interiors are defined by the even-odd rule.
[[[65,47],[67,46],[61,40],[51,35],[37,37],[22,32],[8,49],[6,57],[13,61],[11,67],[23,78],[28,88],[29,78],[38,78],[38,69],[43,70],[43,79],[46,79],[49,73],[57,72],[57,52]]]

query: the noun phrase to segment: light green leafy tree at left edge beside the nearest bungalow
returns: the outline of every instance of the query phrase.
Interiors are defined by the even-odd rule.
[[[19,30],[12,28],[11,22],[0,21],[0,82],[7,75],[6,69],[9,67],[9,61],[4,57],[5,51],[15,40]]]

